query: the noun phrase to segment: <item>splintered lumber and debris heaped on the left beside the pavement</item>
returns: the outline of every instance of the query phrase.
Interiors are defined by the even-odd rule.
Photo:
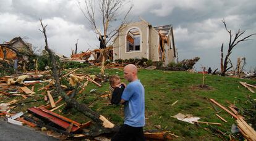
[[[74,92],[82,94],[88,83],[93,83],[96,87],[101,87],[106,79],[97,75],[85,75],[75,73],[75,71],[62,74],[61,79],[68,79],[70,86],[61,85],[61,89],[69,97],[74,97]],[[19,75],[4,76],[0,78],[0,117],[6,118],[8,123],[22,126],[34,127],[41,129],[48,135],[57,137],[58,139],[95,139],[101,140],[105,137],[97,137],[93,135],[91,129],[95,126],[95,121],[87,121],[78,123],[72,119],[60,115],[59,108],[67,106],[66,100],[58,95],[56,87],[52,79],[51,71],[40,71],[35,75],[35,71],[23,73]],[[73,96],[72,96],[73,95]],[[109,97],[109,92],[106,91],[99,97]],[[95,100],[96,100],[95,99]],[[95,102],[93,100],[93,102]],[[32,104],[33,103],[33,104]],[[110,103],[110,102],[109,102]],[[92,104],[92,103],[90,103]],[[90,105],[89,104],[89,105]],[[22,107],[28,107],[20,111]],[[54,112],[54,111],[59,111]],[[100,120],[103,121],[105,128],[113,128],[114,124],[108,121],[104,116],[100,115]],[[115,126],[116,127],[116,126]],[[118,127],[118,126],[117,126]],[[113,133],[111,134],[113,135]],[[145,131],[145,137],[148,139],[173,139],[176,135],[168,131]]]

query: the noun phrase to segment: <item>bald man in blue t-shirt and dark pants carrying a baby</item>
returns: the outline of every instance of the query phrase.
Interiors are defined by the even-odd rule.
[[[129,81],[120,102],[124,103],[124,124],[111,140],[145,140],[145,90],[137,73],[137,67],[133,64],[124,67],[124,78]]]

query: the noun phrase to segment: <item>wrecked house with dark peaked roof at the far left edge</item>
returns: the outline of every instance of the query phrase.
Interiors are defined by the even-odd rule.
[[[15,57],[19,57],[27,60],[31,55],[34,55],[32,44],[24,42],[20,37],[0,44],[0,58],[2,59],[15,59]]]

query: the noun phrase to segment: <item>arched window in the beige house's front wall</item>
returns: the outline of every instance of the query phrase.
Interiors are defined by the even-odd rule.
[[[137,28],[129,30],[126,36],[126,52],[140,50],[140,31]]]

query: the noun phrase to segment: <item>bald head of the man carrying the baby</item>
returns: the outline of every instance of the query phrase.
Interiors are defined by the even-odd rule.
[[[137,73],[138,73],[137,67],[133,64],[129,64],[124,67],[124,78],[126,78],[127,81],[129,82],[132,82],[138,79]]]

